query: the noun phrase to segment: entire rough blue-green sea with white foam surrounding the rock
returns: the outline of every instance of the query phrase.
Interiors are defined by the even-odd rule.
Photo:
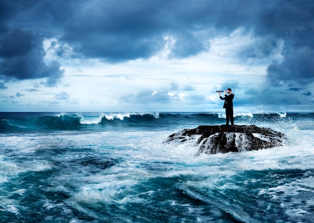
[[[224,112],[2,112],[0,222],[314,222],[314,112],[242,112],[284,145],[165,143]]]

